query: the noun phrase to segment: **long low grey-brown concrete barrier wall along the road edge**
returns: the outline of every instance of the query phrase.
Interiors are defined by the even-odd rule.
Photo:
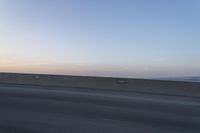
[[[200,82],[0,73],[0,83],[91,88],[200,97]]]

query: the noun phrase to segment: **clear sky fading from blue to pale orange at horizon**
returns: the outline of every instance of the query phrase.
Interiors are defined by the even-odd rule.
[[[200,0],[0,0],[0,72],[200,75]]]

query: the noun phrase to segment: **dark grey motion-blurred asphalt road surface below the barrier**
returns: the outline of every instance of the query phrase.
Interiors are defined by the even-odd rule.
[[[200,98],[0,84],[0,133],[199,133]]]

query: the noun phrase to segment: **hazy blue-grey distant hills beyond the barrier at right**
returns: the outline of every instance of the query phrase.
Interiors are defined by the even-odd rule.
[[[188,81],[188,82],[200,82],[200,76],[186,76],[186,77],[169,77],[169,78],[157,78],[161,80],[171,80],[171,81]]]

